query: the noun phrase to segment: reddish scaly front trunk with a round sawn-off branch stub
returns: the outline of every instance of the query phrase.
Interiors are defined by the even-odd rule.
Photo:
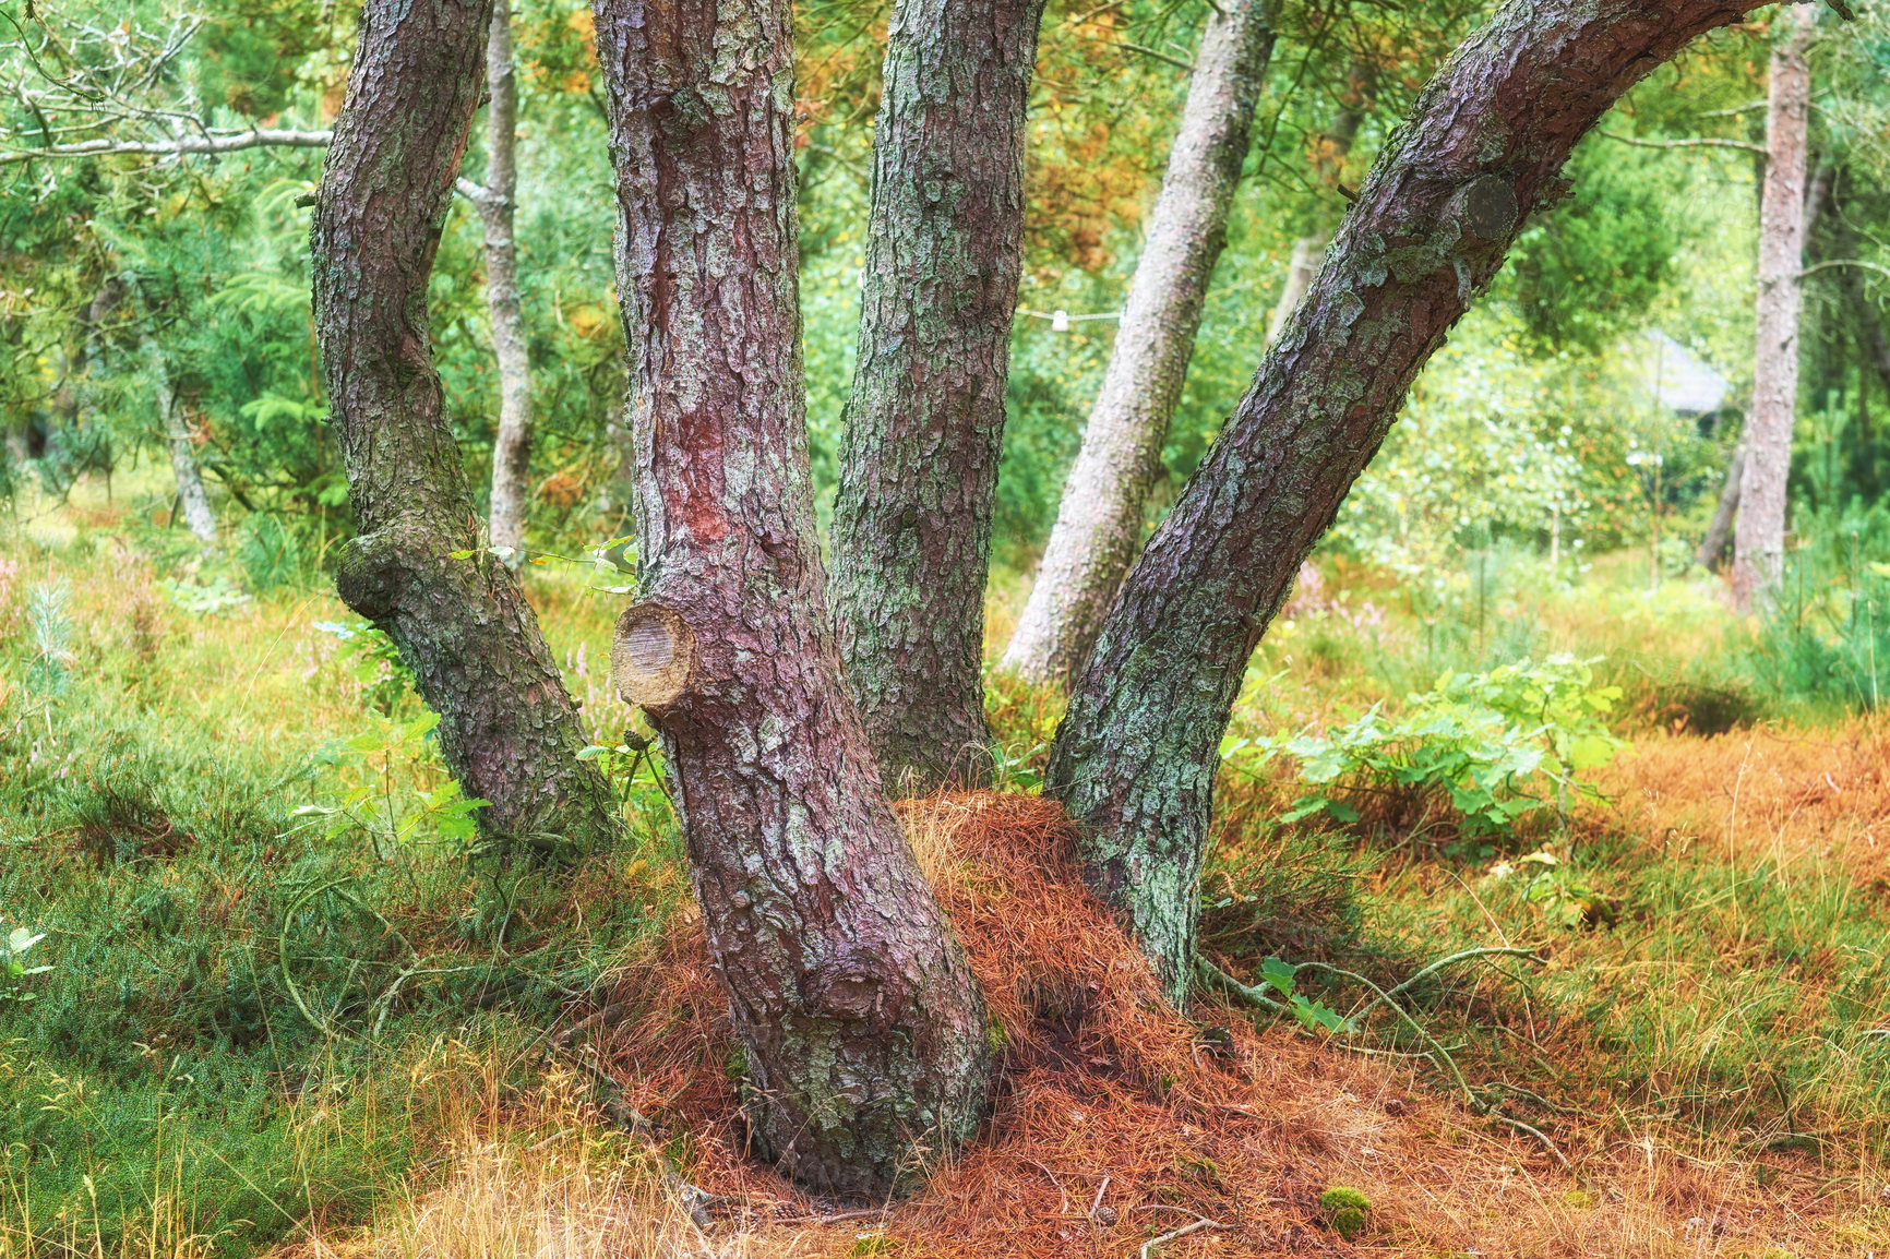
[[[807,469],[788,0],[597,0],[643,603],[612,673],[656,724],[760,1147],[877,1197],[988,1087],[970,964],[879,792]],[[737,55],[739,51],[739,55]]]

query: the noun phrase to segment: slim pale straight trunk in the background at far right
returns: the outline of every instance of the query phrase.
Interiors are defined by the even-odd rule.
[[[1748,612],[1778,584],[1784,563],[1786,476],[1797,420],[1797,314],[1805,268],[1805,132],[1811,68],[1805,45],[1816,11],[1780,9],[1784,38],[1773,47],[1765,110],[1765,187],[1760,202],[1758,336],[1746,471],[1733,527],[1733,605]]]

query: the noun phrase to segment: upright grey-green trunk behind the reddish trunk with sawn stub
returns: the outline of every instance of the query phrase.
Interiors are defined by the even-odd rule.
[[[900,0],[833,499],[847,684],[888,790],[988,783],[985,575],[1043,0]]]

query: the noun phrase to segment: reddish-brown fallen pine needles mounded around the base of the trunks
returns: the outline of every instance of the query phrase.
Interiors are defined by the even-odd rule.
[[[820,1223],[835,1204],[747,1157],[722,996],[684,915],[624,972],[614,1000],[635,1013],[593,1049],[694,1183],[722,1197],[714,1229],[697,1234],[648,1163],[486,1142],[455,1157],[444,1187],[333,1253],[1117,1259],[1198,1217],[1223,1227],[1160,1253],[1756,1259],[1871,1242],[1862,1216],[1809,1183],[1761,1187],[1729,1159],[1652,1138],[1584,1142],[1576,1180],[1395,1059],[1259,1032],[1213,1004],[1181,1019],[1081,890],[1055,805],[979,794],[903,809],[1007,1040],[987,1130],[911,1197]],[[1355,1242],[1325,1229],[1317,1197],[1332,1185],[1374,1204]]]

